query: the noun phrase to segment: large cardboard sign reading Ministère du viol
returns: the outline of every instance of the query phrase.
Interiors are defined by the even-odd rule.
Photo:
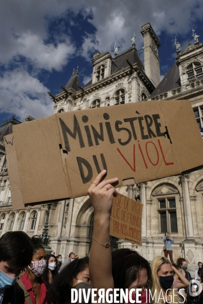
[[[23,204],[84,196],[103,168],[121,186],[122,180],[138,183],[203,165],[189,100],[58,113],[13,126],[5,146],[10,180],[19,174],[11,189],[14,205],[16,191]]]

